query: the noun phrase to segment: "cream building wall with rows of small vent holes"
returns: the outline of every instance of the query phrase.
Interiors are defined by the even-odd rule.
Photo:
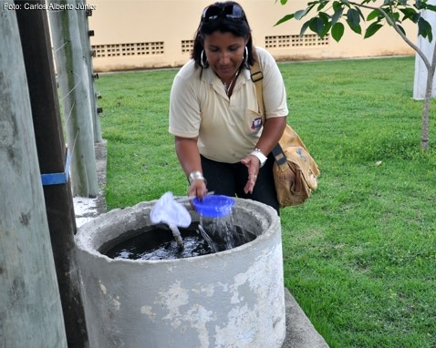
[[[92,0],[89,29],[94,30],[94,69],[111,71],[154,67],[180,67],[189,58],[193,35],[205,0]],[[414,51],[387,26],[369,39],[346,27],[339,43],[306,31],[304,21],[274,26],[284,15],[304,8],[305,1],[280,5],[275,0],[240,0],[253,30],[254,45],[265,47],[276,60],[306,60],[367,56],[412,55]],[[292,4],[292,5],[289,5]],[[416,27],[404,26],[416,42]]]

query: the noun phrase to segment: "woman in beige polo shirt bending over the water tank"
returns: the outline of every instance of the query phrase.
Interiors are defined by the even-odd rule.
[[[264,76],[265,122],[250,73],[255,59]],[[263,202],[279,213],[271,150],[287,113],[283,77],[273,56],[253,46],[241,5],[206,7],[192,59],[171,88],[169,130],[190,181],[188,194],[202,200],[210,189]]]

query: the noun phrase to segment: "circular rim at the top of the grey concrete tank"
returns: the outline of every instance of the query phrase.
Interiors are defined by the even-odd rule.
[[[247,243],[244,243],[243,245],[240,245],[239,247],[236,247],[236,248],[233,248],[233,249],[230,249],[227,251],[219,251],[219,252],[211,253],[211,254],[207,254],[207,255],[194,256],[194,257],[190,257],[190,258],[182,258],[182,259],[175,259],[175,260],[111,259],[111,258],[109,258],[109,256],[106,256],[106,255],[99,252],[99,249],[104,245],[104,243],[97,243],[96,244],[96,239],[101,237],[101,234],[99,234],[99,233],[101,233],[103,231],[107,232],[107,229],[102,228],[101,226],[103,225],[104,221],[108,220],[108,217],[110,217],[112,215],[118,215],[118,214],[121,214],[122,216],[128,216],[129,214],[133,214],[138,209],[143,209],[143,210],[145,210],[144,213],[147,214],[147,220],[149,222],[148,224],[144,224],[144,226],[153,226],[154,224],[151,223],[150,218],[149,218],[149,214],[150,214],[149,210],[151,210],[152,205],[157,200],[140,202],[140,203],[136,204],[135,206],[132,206],[129,208],[125,208],[122,210],[121,209],[110,210],[107,213],[99,215],[99,217],[97,217],[94,220],[89,221],[88,223],[84,224],[83,226],[81,226],[78,229],[78,233],[75,236],[76,245],[77,245],[78,249],[80,249],[82,251],[87,251],[97,258],[101,258],[105,261],[115,262],[115,263],[131,262],[131,263],[135,263],[135,264],[154,264],[154,263],[165,263],[165,262],[172,263],[174,261],[193,262],[193,261],[199,260],[199,259],[207,260],[207,259],[213,259],[213,258],[218,258],[218,259],[224,258],[225,255],[227,255],[228,253],[233,253],[235,251],[242,251],[246,248],[253,248],[257,244],[262,243],[262,241],[267,239],[272,233],[275,233],[275,230],[277,229],[277,226],[275,226],[275,225],[280,224],[280,219],[277,218],[276,211],[273,208],[266,206],[263,203],[259,203],[255,200],[243,200],[243,199],[238,199],[238,198],[235,198],[234,200],[235,200],[234,210],[236,210],[236,211],[245,210],[245,213],[250,214],[254,210],[254,208],[257,207],[258,210],[260,210],[262,213],[266,213],[267,215],[266,216],[263,215],[261,218],[259,218],[258,214],[256,214],[256,215],[254,215],[254,217],[258,218],[259,220],[265,220],[267,222],[265,222],[265,229],[262,229],[261,234],[259,234],[259,235],[256,234],[256,238],[254,241],[249,241]],[[245,208],[245,206],[249,206],[250,210]],[[192,210],[192,207],[189,203],[186,203],[185,207],[192,214],[192,222],[200,220],[200,216],[198,215],[198,213],[195,210]],[[275,218],[277,218],[277,219],[275,220]],[[90,230],[90,232],[89,232],[89,230]],[[121,234],[118,234],[118,236],[122,236],[126,232],[128,232],[128,231],[125,231],[124,233],[121,232]],[[110,241],[110,238],[108,239],[108,241]]]

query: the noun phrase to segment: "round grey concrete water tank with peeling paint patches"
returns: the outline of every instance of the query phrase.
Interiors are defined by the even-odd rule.
[[[153,229],[153,203],[111,210],[78,230],[90,347],[281,347],[285,297],[275,210],[236,199],[235,223],[256,238],[228,251],[157,261],[104,255],[140,230]],[[192,223],[198,222],[198,214],[185,206]]]

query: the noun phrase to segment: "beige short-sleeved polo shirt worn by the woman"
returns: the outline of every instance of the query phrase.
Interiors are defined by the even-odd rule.
[[[264,74],[265,117],[286,117],[285,85],[275,59],[260,47],[256,47],[256,53]],[[243,68],[231,97],[227,97],[211,67],[195,68],[193,60],[174,77],[169,131],[182,138],[198,136],[198,148],[204,157],[239,162],[253,151],[262,129],[250,70]]]

